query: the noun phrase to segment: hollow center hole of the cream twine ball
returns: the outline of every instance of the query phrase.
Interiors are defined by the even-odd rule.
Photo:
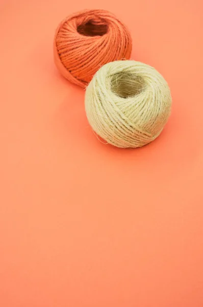
[[[128,98],[139,95],[143,92],[146,84],[144,78],[139,75],[118,73],[113,75],[111,90],[121,98]]]

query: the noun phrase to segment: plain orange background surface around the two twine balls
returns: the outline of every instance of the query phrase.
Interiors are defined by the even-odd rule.
[[[203,306],[203,3],[1,1],[1,307]],[[172,115],[140,149],[100,143],[53,63],[62,18],[114,12]]]

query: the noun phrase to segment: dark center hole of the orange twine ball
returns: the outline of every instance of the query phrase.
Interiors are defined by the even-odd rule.
[[[78,33],[85,36],[103,36],[108,31],[108,25],[104,20],[89,20],[87,23],[79,25]]]

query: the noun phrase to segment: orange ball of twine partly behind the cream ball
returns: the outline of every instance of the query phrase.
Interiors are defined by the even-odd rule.
[[[85,87],[102,65],[129,59],[132,38],[105,10],[84,10],[65,18],[56,30],[54,60],[69,81]]]

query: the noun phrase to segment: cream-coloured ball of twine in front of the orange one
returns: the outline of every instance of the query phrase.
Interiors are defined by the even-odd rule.
[[[141,147],[155,140],[171,110],[170,89],[147,64],[107,63],[87,86],[85,109],[95,133],[117,147]]]

